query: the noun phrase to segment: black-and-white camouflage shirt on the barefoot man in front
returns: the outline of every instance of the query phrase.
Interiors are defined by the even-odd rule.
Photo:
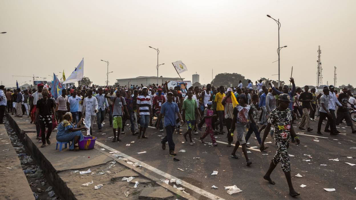
[[[278,107],[269,113],[268,123],[274,125],[274,140],[276,142],[289,141],[292,112],[289,108],[279,110]]]

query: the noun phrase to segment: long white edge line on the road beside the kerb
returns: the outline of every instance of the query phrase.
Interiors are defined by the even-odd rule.
[[[111,148],[111,147],[109,147],[109,146],[106,146],[106,145],[103,144],[103,143],[100,143],[100,142],[98,142],[98,141],[96,141],[95,143],[98,144],[99,146],[103,147],[103,148],[108,149],[109,151],[112,151],[112,152],[115,152],[115,151],[116,151],[116,153],[117,153],[117,154],[121,154],[122,157],[125,157],[125,158],[127,158],[127,159],[129,159],[129,160],[131,160],[131,161],[133,161],[133,162],[135,162],[135,163],[138,163],[138,164],[142,165],[143,167],[145,167],[146,169],[151,170],[152,172],[155,172],[156,174],[159,174],[159,175],[161,175],[161,176],[163,176],[163,177],[165,177],[165,178],[167,178],[167,179],[176,179],[176,180],[178,179],[178,178],[172,176],[171,174],[167,174],[166,172],[162,172],[161,170],[156,169],[156,168],[152,167],[151,165],[148,165],[148,164],[146,164],[146,163],[143,163],[143,162],[141,162],[140,160],[137,160],[137,159],[135,159],[135,158],[132,158],[131,156],[128,156],[128,155],[126,155],[126,154],[124,154],[124,153],[122,153],[122,152],[117,151],[116,149],[113,149],[113,148]],[[200,189],[200,188],[198,188],[197,186],[194,186],[194,185],[192,185],[192,184],[190,184],[190,183],[187,183],[187,182],[185,182],[184,180],[182,180],[182,184],[180,184],[180,185],[183,185],[184,187],[186,187],[186,188],[188,188],[188,189],[190,189],[190,190],[193,190],[195,193],[198,193],[198,194],[200,194],[200,195],[204,195],[204,196],[206,196],[206,197],[209,198],[209,199],[213,199],[213,200],[225,200],[225,199],[223,199],[223,198],[220,198],[219,196],[216,196],[216,195],[214,195],[214,194],[211,194],[211,193],[209,193],[209,192],[207,192],[207,191],[205,191],[205,190],[203,190],[203,189]]]

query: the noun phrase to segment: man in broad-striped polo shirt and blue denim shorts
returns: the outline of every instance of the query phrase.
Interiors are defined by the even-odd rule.
[[[142,87],[142,94],[137,96],[137,116],[140,119],[140,133],[138,133],[137,138],[141,137],[142,129],[143,134],[142,138],[148,138],[145,136],[146,128],[150,123],[150,115],[152,114],[151,108],[151,98],[147,95],[147,87]]]

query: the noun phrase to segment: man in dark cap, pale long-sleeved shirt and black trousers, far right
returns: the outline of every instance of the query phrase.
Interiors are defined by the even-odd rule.
[[[340,104],[339,100],[337,100],[336,94],[334,93],[335,87],[334,85],[329,86],[330,94],[329,94],[329,112],[333,116],[333,118],[330,120],[330,122],[326,122],[325,125],[325,130],[324,132],[330,132],[332,131],[333,133],[340,133],[340,131],[336,130],[336,116],[335,116],[335,110],[337,104],[340,107],[344,107],[342,104]],[[330,130],[329,130],[329,125],[330,125]]]

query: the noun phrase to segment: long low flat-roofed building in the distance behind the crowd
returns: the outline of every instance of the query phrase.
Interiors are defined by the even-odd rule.
[[[181,80],[181,79],[170,78],[170,77],[158,77],[158,84],[162,85],[164,84],[165,81],[168,80]],[[138,86],[142,84],[144,86],[147,86],[150,84],[157,84],[157,77],[136,77],[136,78],[116,79],[116,83],[121,86],[125,86],[125,85],[130,86],[131,84],[138,85]]]

